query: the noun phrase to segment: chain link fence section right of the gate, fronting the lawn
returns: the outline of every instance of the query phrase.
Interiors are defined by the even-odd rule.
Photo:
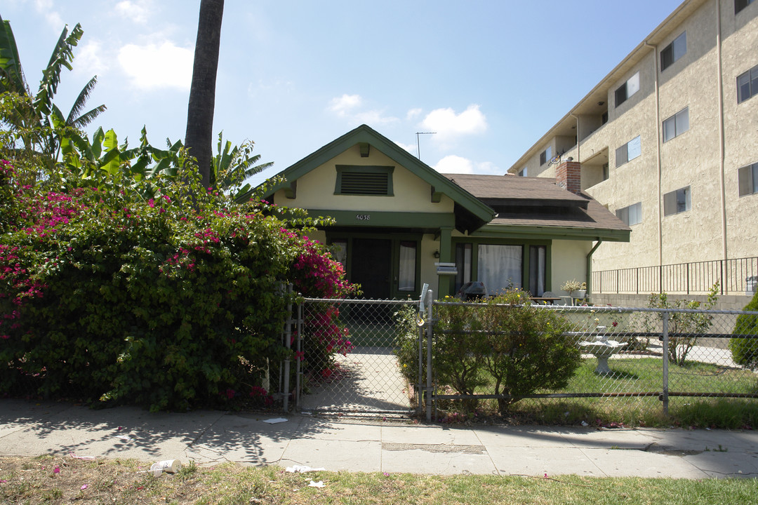
[[[527,317],[509,315],[512,306],[434,302],[428,419],[428,407],[642,424],[704,405],[758,409],[758,313],[532,307]],[[554,380],[556,369],[565,380]]]

